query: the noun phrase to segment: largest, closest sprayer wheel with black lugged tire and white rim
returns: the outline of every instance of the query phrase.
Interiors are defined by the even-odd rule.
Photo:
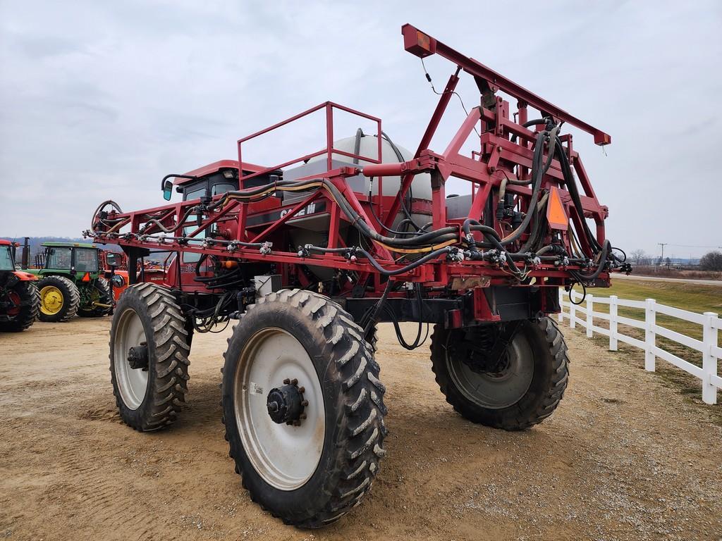
[[[229,454],[251,499],[285,524],[339,519],[369,491],[386,454],[385,388],[362,334],[339,304],[286,289],[248,306],[228,340]]]

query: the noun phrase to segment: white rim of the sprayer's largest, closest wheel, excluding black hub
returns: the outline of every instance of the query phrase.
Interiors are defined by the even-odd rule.
[[[308,400],[300,426],[275,423],[266,406],[274,387],[297,379]],[[267,327],[251,336],[235,373],[235,421],[243,449],[266,483],[282,491],[303,486],[318,467],[326,437],[323,391],[316,367],[287,331]]]

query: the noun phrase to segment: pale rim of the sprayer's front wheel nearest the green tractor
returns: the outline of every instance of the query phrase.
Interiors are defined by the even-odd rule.
[[[128,362],[128,351],[133,346],[147,342],[143,322],[136,311],[127,308],[117,315],[116,340],[113,343],[113,365],[116,369],[116,382],[121,392],[123,403],[137,410],[143,403],[148,388],[148,371],[132,369]]]

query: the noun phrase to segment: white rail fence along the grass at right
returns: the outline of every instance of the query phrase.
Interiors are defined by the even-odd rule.
[[[582,295],[577,291],[572,291],[572,295],[574,302],[580,302],[580,299],[582,299]],[[702,380],[702,400],[705,403],[717,403],[717,390],[722,389],[722,377],[718,376],[717,371],[717,360],[722,359],[722,348],[718,344],[718,330],[722,329],[722,319],[717,317],[717,314],[714,312],[697,314],[695,312],[687,312],[687,310],[669,307],[664,304],[658,304],[654,299],[630,301],[627,299],[619,299],[616,295],[594,296],[587,294],[584,302],[573,304],[569,302],[567,292],[562,290],[560,290],[560,304],[562,307],[562,312],[558,315],[560,322],[566,319],[571,328],[575,328],[576,325],[581,325],[586,328],[588,338],[592,338],[594,333],[608,336],[609,351],[617,351],[617,344],[619,342],[640,348],[644,351],[644,367],[648,371],[654,371],[657,357],[674,364],[674,366]],[[609,313],[597,312],[594,309],[595,304],[608,304]],[[644,320],[636,320],[631,317],[619,315],[617,313],[619,307],[643,310]],[[702,340],[697,340],[657,325],[657,314],[664,314],[702,325]],[[584,317],[580,317],[579,315],[583,315]],[[609,328],[606,329],[599,325],[594,325],[595,319],[609,322]],[[644,340],[620,333],[618,329],[620,324],[643,330]],[[674,353],[658,347],[656,343],[657,336],[663,336],[664,338],[682,344],[682,346],[687,346],[687,348],[699,351],[702,356],[702,367],[700,368],[700,366],[685,361]]]

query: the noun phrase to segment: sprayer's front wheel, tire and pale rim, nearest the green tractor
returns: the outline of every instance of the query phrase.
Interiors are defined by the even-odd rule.
[[[154,283],[123,291],[110,325],[110,381],[121,419],[137,431],[175,421],[188,392],[185,318]]]

